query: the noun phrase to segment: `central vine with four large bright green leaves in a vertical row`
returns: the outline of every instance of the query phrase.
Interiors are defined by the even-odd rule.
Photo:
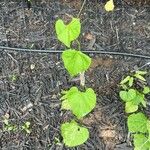
[[[58,20],[55,24],[56,34],[68,49],[62,53],[64,66],[71,77],[84,73],[91,64],[91,58],[79,49],[71,48],[71,43],[77,41],[81,32],[81,23],[77,18],[72,18],[69,24],[64,24],[63,20]],[[84,86],[84,84],[81,84]],[[63,91],[62,109],[70,110],[75,116],[75,120],[82,119],[90,113],[96,105],[96,94],[93,89],[85,88],[80,91],[77,87],[71,87],[68,91]],[[63,142],[68,147],[74,147],[83,144],[89,138],[87,128],[79,125],[75,120],[63,123],[61,125],[61,135]]]

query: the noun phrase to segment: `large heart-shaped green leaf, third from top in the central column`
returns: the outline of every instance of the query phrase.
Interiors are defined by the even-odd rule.
[[[80,92],[76,87],[72,87],[63,99],[67,101],[67,107],[77,118],[82,118],[87,115],[96,105],[96,94],[91,88],[85,92]]]

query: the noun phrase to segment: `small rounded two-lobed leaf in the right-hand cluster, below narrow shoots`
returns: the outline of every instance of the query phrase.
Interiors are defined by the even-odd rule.
[[[136,90],[120,91],[119,96],[123,101],[129,102],[136,97]]]

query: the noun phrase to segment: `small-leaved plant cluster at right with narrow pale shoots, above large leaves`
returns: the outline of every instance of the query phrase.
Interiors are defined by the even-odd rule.
[[[133,113],[138,110],[140,104],[146,107],[145,95],[150,92],[148,86],[143,86],[141,91],[133,87],[134,81],[140,80],[145,82],[145,71],[136,71],[133,76],[127,76],[120,82],[120,86],[123,90],[120,91],[119,96],[125,102],[126,113]],[[146,83],[144,83],[146,84]]]

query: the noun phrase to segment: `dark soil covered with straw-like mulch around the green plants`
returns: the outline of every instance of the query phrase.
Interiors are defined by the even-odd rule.
[[[31,122],[31,133],[0,130],[2,150],[132,150],[124,104],[120,101],[119,82],[150,59],[96,54],[98,50],[150,56],[150,6],[138,7],[116,1],[115,10],[106,12],[104,1],[87,0],[80,18],[81,48],[92,49],[92,65],[86,72],[86,86],[97,94],[96,108],[82,120],[90,130],[89,140],[75,148],[62,141],[60,124],[69,112],[60,110],[61,90],[79,86],[64,69],[60,53],[33,53],[0,50],[0,128],[2,117],[9,116],[18,128]],[[0,46],[59,50],[54,25],[58,18],[79,13],[83,1],[38,0],[31,8],[25,1],[0,2]],[[76,44],[74,44],[76,47]],[[142,69],[149,72],[149,66]],[[149,74],[149,73],[148,73]],[[147,76],[150,85],[150,77]],[[148,99],[149,102],[149,99]],[[149,106],[146,109],[150,115]]]

